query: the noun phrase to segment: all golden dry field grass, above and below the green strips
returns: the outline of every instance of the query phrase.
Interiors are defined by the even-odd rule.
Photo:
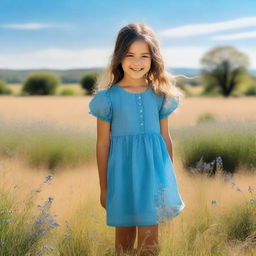
[[[0,98],[0,122],[49,122],[57,126],[73,127],[88,132],[96,132],[96,119],[88,114],[88,103],[91,96],[50,96],[50,97],[15,97]],[[236,120],[246,122],[256,120],[255,97],[242,98],[187,98],[181,103],[178,111],[170,118],[170,129],[194,125],[198,117],[204,113],[212,113],[217,120]],[[204,207],[208,207],[213,215],[220,214],[242,202],[248,197],[248,186],[256,185],[256,174],[244,175],[240,170],[234,180],[243,191],[234,190],[223,178],[207,179],[205,177],[190,177],[183,169],[181,162],[175,158],[174,166],[180,193],[186,204],[185,209],[172,221],[171,235],[181,233],[182,223],[197,219]],[[33,170],[19,160],[0,159],[1,175],[0,188],[12,188],[17,185],[16,195],[23,198],[26,193],[36,189],[46,176],[46,170]],[[39,201],[52,196],[54,203],[52,211],[57,214],[57,220],[63,224],[79,209],[82,225],[92,228],[92,232],[105,234],[106,239],[114,246],[114,229],[105,224],[105,210],[99,203],[99,181],[96,163],[70,170],[61,170],[54,175],[51,184],[47,185],[40,194]],[[244,197],[245,196],[245,197]],[[211,205],[216,200],[216,205]],[[90,205],[90,207],[86,207]],[[99,230],[95,231],[96,216]],[[177,235],[178,237],[178,235]],[[164,239],[164,238],[163,238]],[[174,243],[175,243],[175,237]],[[163,244],[168,243],[163,240]],[[234,254],[236,255],[236,254]]]

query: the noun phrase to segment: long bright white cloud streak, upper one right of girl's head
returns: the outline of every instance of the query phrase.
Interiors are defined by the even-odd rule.
[[[179,26],[171,29],[162,30],[158,32],[158,34],[160,37],[188,37],[246,27],[256,27],[256,17],[246,17],[215,23]]]

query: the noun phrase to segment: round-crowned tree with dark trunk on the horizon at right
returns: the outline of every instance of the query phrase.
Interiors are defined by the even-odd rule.
[[[200,62],[203,66],[205,91],[209,92],[219,87],[225,97],[236,88],[249,66],[247,55],[231,46],[216,47],[206,52]]]

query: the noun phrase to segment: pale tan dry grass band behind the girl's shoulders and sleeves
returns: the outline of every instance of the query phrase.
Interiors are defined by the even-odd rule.
[[[34,96],[0,98],[0,121],[50,122],[60,126],[95,131],[95,117],[88,114],[88,103],[92,96]],[[170,116],[171,127],[194,125],[198,117],[213,113],[217,120],[256,120],[255,97],[241,98],[186,98],[180,108]]]

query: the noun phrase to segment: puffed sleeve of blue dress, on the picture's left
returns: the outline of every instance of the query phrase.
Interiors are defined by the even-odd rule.
[[[98,91],[89,102],[89,114],[103,121],[112,121],[112,104],[107,90]]]

